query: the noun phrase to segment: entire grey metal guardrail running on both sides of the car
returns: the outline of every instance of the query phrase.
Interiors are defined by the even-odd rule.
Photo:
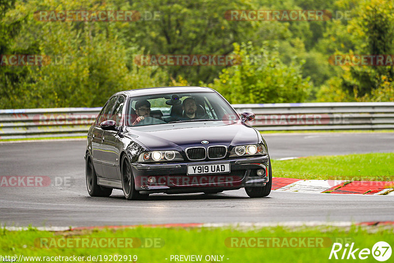
[[[233,104],[259,131],[394,129],[394,102]],[[84,136],[98,108],[0,110],[0,139]]]

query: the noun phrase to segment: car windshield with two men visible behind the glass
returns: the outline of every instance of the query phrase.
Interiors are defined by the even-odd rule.
[[[228,102],[213,92],[155,94],[133,97],[128,103],[126,125],[238,120]]]

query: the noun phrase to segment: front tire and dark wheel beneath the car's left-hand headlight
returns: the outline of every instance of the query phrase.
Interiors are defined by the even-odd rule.
[[[122,190],[127,200],[141,200],[145,199],[148,195],[141,195],[135,190],[134,176],[131,171],[129,159],[126,155],[122,157],[121,162],[121,174],[122,174]]]

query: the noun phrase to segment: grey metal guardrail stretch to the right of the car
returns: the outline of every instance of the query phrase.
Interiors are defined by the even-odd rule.
[[[234,104],[259,131],[394,129],[394,102]]]

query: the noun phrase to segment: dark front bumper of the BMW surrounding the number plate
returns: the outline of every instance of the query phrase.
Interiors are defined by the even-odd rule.
[[[230,163],[230,172],[187,175],[188,165]],[[241,187],[262,187],[269,181],[269,156],[231,158],[215,161],[161,164],[132,163],[135,190],[148,193],[221,192]],[[265,175],[256,171],[264,169]],[[152,181],[153,180],[153,181]]]

